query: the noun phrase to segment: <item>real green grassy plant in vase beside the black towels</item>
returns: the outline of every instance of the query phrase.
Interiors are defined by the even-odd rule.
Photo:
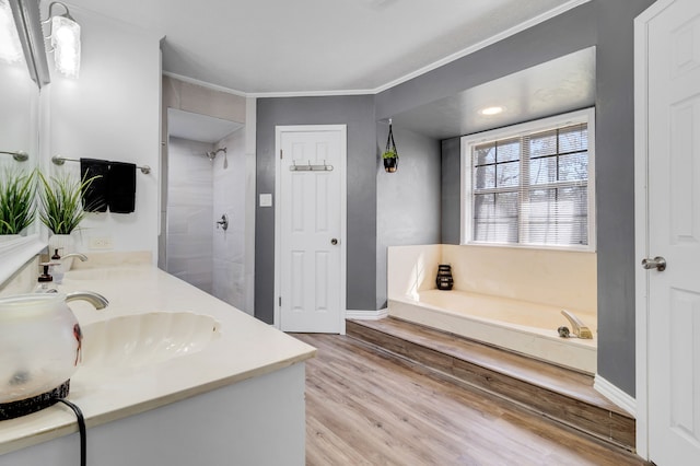
[[[70,234],[85,218],[82,193],[100,176],[75,179],[69,175],[46,178],[39,172],[39,220],[54,234]]]

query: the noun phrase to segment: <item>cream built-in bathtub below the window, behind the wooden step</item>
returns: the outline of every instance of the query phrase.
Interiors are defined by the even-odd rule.
[[[389,298],[390,316],[494,345],[590,374],[596,373],[597,318],[569,308],[593,339],[561,338],[571,329],[561,307],[464,291],[427,290]]]

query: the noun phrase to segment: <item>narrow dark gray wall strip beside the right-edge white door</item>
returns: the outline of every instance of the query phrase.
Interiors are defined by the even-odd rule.
[[[635,394],[633,19],[653,0],[596,1],[598,373]]]

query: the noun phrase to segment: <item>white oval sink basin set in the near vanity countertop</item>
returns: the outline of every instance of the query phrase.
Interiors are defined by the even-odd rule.
[[[221,334],[212,317],[188,312],[114,317],[82,328],[83,365],[156,364],[201,351]]]

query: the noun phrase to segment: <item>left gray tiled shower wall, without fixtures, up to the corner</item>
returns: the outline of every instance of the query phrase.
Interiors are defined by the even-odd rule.
[[[211,150],[206,142],[168,140],[166,270],[208,293],[213,277],[213,171],[205,153]]]

